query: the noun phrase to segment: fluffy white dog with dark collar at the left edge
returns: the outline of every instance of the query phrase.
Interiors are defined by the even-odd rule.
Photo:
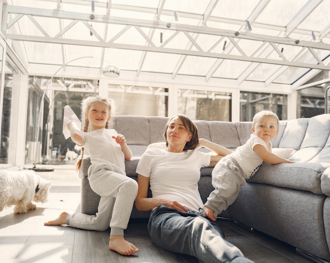
[[[31,201],[46,202],[51,183],[33,170],[0,170],[0,211],[11,205],[15,205],[14,213],[36,209]]]

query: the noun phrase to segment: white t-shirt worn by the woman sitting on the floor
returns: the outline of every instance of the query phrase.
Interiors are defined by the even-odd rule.
[[[203,206],[198,191],[200,168],[209,166],[211,156],[198,150],[171,153],[149,147],[138,162],[136,173],[149,177],[152,197],[171,199],[188,210]]]

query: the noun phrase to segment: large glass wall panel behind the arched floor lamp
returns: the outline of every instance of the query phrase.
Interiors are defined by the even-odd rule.
[[[41,105],[43,91],[47,90],[44,107]],[[66,158],[66,152],[79,154],[80,148],[69,138],[65,140],[63,129],[64,106],[70,105],[78,118],[81,118],[80,106],[83,98],[98,95],[97,80],[77,80],[54,78],[49,84],[49,78],[30,77],[29,103],[27,120],[26,163],[74,164],[76,158]],[[43,125],[37,128],[39,112],[42,111]],[[38,147],[31,147],[38,141]],[[40,147],[42,145],[42,147]],[[35,154],[38,151],[37,154]],[[37,156],[37,157],[35,157]]]

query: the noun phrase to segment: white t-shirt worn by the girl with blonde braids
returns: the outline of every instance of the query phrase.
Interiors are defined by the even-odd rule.
[[[114,129],[96,129],[89,133],[84,133],[85,144],[81,145],[88,151],[91,157],[91,163],[111,163],[118,166],[115,172],[125,173],[125,155],[121,147],[116,143],[112,136],[118,133]]]

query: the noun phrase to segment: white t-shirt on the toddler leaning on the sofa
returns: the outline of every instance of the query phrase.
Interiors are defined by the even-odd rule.
[[[239,164],[245,178],[253,176],[263,163],[263,160],[253,151],[253,147],[257,144],[264,146],[271,153],[271,142],[270,148],[268,148],[267,143],[263,139],[251,134],[250,139],[245,144],[237,147],[235,152],[230,155]]]

